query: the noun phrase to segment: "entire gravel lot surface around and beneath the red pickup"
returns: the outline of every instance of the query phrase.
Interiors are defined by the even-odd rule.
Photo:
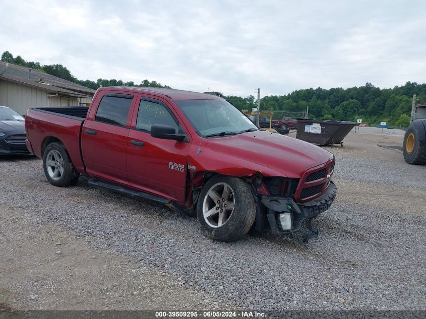
[[[195,218],[0,159],[0,308],[426,310],[426,166],[350,133],[318,239],[204,237]]]

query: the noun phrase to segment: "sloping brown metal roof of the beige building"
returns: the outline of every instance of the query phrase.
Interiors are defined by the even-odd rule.
[[[77,97],[92,97],[95,90],[52,76],[41,71],[0,61],[0,80],[15,82],[25,86]]]

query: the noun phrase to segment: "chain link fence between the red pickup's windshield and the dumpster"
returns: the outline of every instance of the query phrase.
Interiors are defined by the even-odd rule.
[[[242,110],[256,125],[265,130],[290,129],[297,128],[297,118],[305,118],[306,112],[290,111],[249,111]],[[259,124],[258,124],[259,118]]]

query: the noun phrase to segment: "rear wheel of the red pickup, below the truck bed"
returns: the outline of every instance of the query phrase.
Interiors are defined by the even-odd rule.
[[[43,168],[47,180],[59,187],[74,185],[80,177],[64,144],[58,142],[50,143],[44,150]]]

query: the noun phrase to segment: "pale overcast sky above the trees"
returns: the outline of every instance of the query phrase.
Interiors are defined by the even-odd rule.
[[[0,0],[0,54],[247,96],[426,76],[426,1]]]

